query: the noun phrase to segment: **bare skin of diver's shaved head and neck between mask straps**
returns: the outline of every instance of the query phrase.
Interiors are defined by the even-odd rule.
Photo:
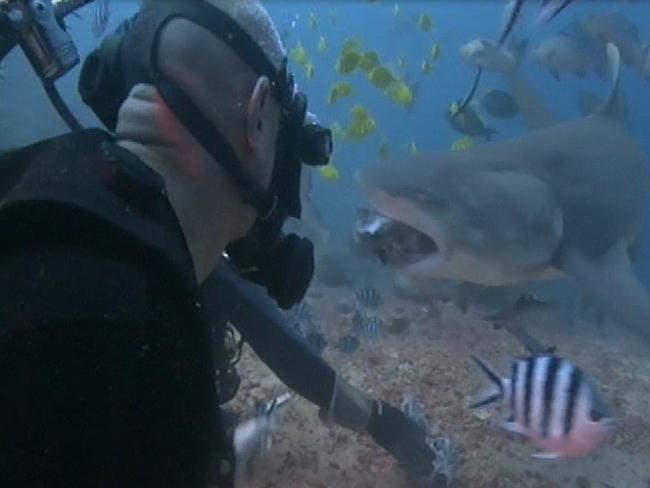
[[[157,59],[151,60],[152,64],[205,117],[211,132],[208,137],[222,138],[241,170],[267,191],[281,113],[271,80],[258,75],[221,38],[185,17],[160,25],[160,18],[148,10],[159,3],[167,2],[144,6],[133,40],[144,40],[151,35],[147,30],[159,29],[157,48],[152,50]],[[281,42],[258,2],[209,3],[244,28],[273,68],[281,69]],[[218,160],[222,155],[210,154],[175,108],[155,83],[136,84],[120,109],[115,132],[120,144],[165,179],[201,279],[214,267],[226,245],[248,232],[257,214]]]

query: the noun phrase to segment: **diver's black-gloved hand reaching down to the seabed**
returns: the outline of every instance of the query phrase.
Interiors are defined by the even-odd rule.
[[[375,401],[367,432],[386,449],[406,473],[426,486],[447,486],[457,455],[444,438],[432,438],[403,411]]]

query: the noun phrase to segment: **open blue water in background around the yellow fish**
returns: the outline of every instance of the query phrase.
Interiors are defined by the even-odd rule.
[[[623,11],[633,19],[649,19],[648,2],[576,2],[562,16],[549,26],[536,33],[541,39],[561,30],[572,20],[585,13],[605,11],[614,4],[623,5]],[[334,152],[335,164],[342,178],[336,184],[329,184],[317,178],[315,199],[322,208],[324,216],[334,229],[348,233],[351,230],[354,208],[363,204],[354,183],[354,172],[362,165],[378,157],[381,142],[390,144],[391,156],[408,154],[411,141],[419,150],[447,150],[458,138],[443,118],[443,113],[454,99],[462,98],[471,84],[474,72],[458,54],[458,48],[475,37],[494,38],[501,25],[503,2],[496,1],[412,1],[400,2],[400,15],[393,15],[394,2],[380,0],[369,3],[366,0],[336,2],[266,2],[278,30],[285,36],[286,47],[290,50],[301,41],[307,48],[316,67],[312,81],[305,78],[298,66],[293,66],[296,79],[303,91],[309,95],[310,109],[318,114],[324,123],[339,121],[343,124],[349,119],[349,110],[359,103],[370,109],[378,128],[375,134],[359,142],[341,142]],[[80,11],[81,18],[69,18],[68,25],[82,57],[99,42],[91,33],[93,6]],[[135,1],[113,1],[109,29],[127,18],[137,9]],[[430,32],[417,27],[420,14],[428,14],[434,21]],[[310,26],[309,16],[319,19],[318,29]],[[335,21],[333,21],[335,18]],[[642,37],[650,39],[650,23],[639,22]],[[319,53],[317,49],[320,36],[326,39],[328,50]],[[341,77],[335,70],[335,63],[343,42],[357,38],[365,49],[377,51],[382,60],[396,64],[399,57],[405,61],[406,79],[417,86],[414,106],[404,108],[396,105],[388,97],[374,88],[363,73]],[[425,75],[421,62],[431,49],[433,42],[442,45],[442,57],[434,65],[433,72]],[[54,110],[50,107],[39,81],[32,73],[19,49],[10,53],[3,62],[5,81],[0,81],[0,148],[18,146],[43,137],[59,134],[65,130]],[[541,95],[552,103],[553,109],[564,118],[578,116],[577,94],[582,89],[606,93],[608,86],[595,75],[584,80],[571,76],[556,82],[546,71],[526,59],[524,70],[534,81]],[[96,125],[97,120],[87,107],[81,103],[76,93],[78,68],[73,70],[58,86],[73,112],[84,125]],[[326,102],[332,83],[349,81],[355,89],[355,96],[340,101],[335,106]],[[484,88],[503,87],[501,79],[487,74]],[[636,73],[626,70],[623,77],[623,90],[627,94],[634,133],[641,139],[650,153],[650,83],[642,80]],[[508,123],[490,122],[499,132],[496,139],[509,138],[525,133],[522,120]],[[616,164],[616,161],[612,161]],[[335,196],[335,198],[334,198]],[[645,226],[645,245],[638,267],[642,279],[650,285],[650,230]]]

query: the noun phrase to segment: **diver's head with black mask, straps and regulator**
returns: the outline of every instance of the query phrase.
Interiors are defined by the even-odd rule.
[[[331,136],[306,118],[267,12],[257,0],[150,1],[127,30],[89,57],[82,95],[165,178],[199,280],[225,250],[271,294],[292,281],[281,270],[298,270],[304,294],[311,244],[281,229],[300,216],[302,162],[326,164]],[[112,96],[127,98],[117,117],[116,104],[101,107],[111,99],[101,91],[106,73],[130,89]],[[275,298],[288,304],[301,293]]]

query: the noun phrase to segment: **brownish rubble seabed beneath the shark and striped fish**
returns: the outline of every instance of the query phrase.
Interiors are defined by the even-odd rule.
[[[467,405],[485,385],[471,361],[477,355],[502,371],[526,351],[504,329],[495,329],[477,313],[453,304],[415,304],[384,297],[381,314],[407,317],[408,329],[361,338],[360,348],[345,354],[332,347],[351,333],[341,310],[354,307],[346,288],[315,286],[307,298],[328,340],[324,358],[348,381],[399,406],[415,394],[437,433],[454,441],[461,456],[453,486],[458,488],[648,488],[650,486],[650,345],[612,324],[564,323],[549,309],[517,318],[545,345],[572,360],[594,379],[623,427],[589,457],[544,461],[536,447],[498,427],[501,415],[472,412]],[[251,411],[256,402],[287,391],[246,348],[239,366],[242,388],[233,402]],[[342,428],[329,428],[316,407],[298,398],[280,419],[268,458],[258,469],[254,488],[407,488],[393,458],[372,439]]]

